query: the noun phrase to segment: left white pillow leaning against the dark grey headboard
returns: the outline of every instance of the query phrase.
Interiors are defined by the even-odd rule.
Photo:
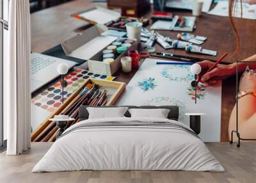
[[[128,107],[86,107],[89,119],[125,117]]]

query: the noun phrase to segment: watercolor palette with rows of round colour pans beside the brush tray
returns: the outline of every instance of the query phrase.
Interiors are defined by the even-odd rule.
[[[74,69],[74,72],[68,74],[65,77],[65,81],[67,81],[67,86],[64,88],[63,96],[64,101],[67,99],[73,92],[81,86],[81,84],[85,83],[89,78],[96,79],[106,79],[108,81],[113,81],[115,77],[93,74],[88,70],[83,70],[81,68]],[[62,87],[61,87],[61,79],[57,83],[53,84],[49,88],[45,89],[43,92],[39,93],[31,99],[32,105],[41,107],[51,113],[56,111],[56,109],[62,104]]]

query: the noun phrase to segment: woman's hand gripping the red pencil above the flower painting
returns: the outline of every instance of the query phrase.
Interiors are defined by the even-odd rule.
[[[218,64],[217,67],[215,67],[210,72],[207,72],[207,70],[209,70],[209,68],[211,68],[212,65],[214,65],[214,62],[209,60],[204,60],[204,61],[198,62],[198,64],[202,68],[201,73],[198,75],[198,79],[202,83],[206,83],[209,85],[218,84],[221,80],[236,74],[236,65],[234,64],[230,64],[230,65]]]

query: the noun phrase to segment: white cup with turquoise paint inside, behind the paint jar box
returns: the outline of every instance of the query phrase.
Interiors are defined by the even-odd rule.
[[[129,22],[125,24],[127,37],[130,39],[136,39],[138,44],[140,43],[140,33],[142,28],[141,22]]]

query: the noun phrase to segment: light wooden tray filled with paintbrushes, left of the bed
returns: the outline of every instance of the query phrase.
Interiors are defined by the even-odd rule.
[[[111,106],[115,104],[124,90],[125,83],[87,79],[76,92],[65,100],[64,104],[61,104],[54,113],[47,116],[40,126],[33,131],[31,141],[55,141],[58,127],[56,123],[50,121],[55,115],[68,115],[74,118],[72,123],[68,123],[69,127],[79,122],[80,106]]]

